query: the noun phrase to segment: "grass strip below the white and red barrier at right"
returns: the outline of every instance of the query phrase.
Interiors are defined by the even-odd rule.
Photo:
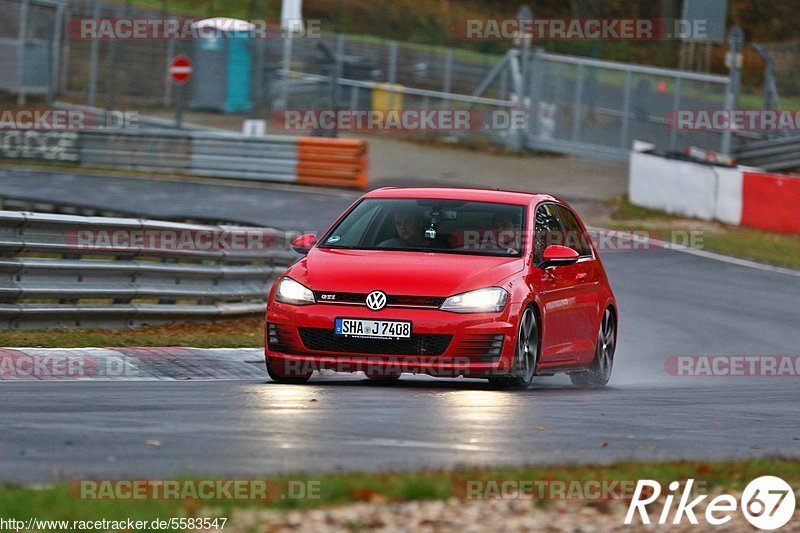
[[[705,250],[762,263],[800,269],[800,235],[777,233],[719,222],[683,218],[663,211],[633,205],[627,198],[618,200],[608,220],[600,225],[617,230],[647,231],[649,235]],[[691,237],[686,232],[699,232]],[[678,235],[689,239],[681,242]],[[690,238],[691,237],[691,238]]]

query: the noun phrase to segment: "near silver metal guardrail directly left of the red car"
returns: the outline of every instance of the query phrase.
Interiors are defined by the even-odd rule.
[[[269,239],[248,249],[76,240],[78,232],[103,231]],[[289,237],[269,228],[0,211],[0,321],[7,328],[119,328],[262,313],[275,276],[295,260]]]

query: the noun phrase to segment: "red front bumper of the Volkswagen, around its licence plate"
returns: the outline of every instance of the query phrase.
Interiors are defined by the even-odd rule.
[[[518,305],[500,313],[452,313],[428,308],[272,302],[267,311],[266,357],[281,373],[313,370],[399,372],[438,377],[508,375],[514,358]],[[410,320],[412,339],[360,340],[333,336],[338,317]]]

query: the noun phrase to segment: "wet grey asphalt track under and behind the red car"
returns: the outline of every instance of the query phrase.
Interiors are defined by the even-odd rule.
[[[559,376],[524,392],[413,376],[389,386],[9,382],[0,478],[800,457],[800,378],[664,370],[670,355],[800,355],[800,277],[663,249],[603,259],[621,315],[608,389],[577,390]]]

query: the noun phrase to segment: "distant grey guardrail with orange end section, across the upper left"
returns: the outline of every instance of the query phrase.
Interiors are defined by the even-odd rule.
[[[40,139],[43,135],[49,137]],[[88,168],[367,187],[367,143],[356,139],[247,137],[222,131],[156,128],[11,131],[5,136],[0,149],[2,160],[68,160]],[[68,159],[61,157],[64,143],[60,136],[76,152]]]

